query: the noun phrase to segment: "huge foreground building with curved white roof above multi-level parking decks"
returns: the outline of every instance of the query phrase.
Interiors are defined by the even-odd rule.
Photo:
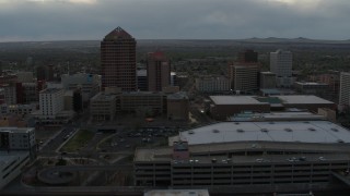
[[[350,132],[328,121],[222,122],[135,152],[135,185],[250,193],[329,186],[350,169]],[[179,155],[179,156],[174,156]]]

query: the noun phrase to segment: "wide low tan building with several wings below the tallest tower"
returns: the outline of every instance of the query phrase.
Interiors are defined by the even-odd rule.
[[[140,115],[166,115],[174,120],[188,119],[188,97],[185,93],[165,94],[153,91],[118,93],[107,88],[90,101],[91,118],[94,121],[113,120],[116,114],[138,113]]]

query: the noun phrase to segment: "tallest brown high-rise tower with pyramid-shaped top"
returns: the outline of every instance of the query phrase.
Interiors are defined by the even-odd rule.
[[[124,91],[137,89],[136,40],[120,27],[101,41],[102,87],[120,87]]]

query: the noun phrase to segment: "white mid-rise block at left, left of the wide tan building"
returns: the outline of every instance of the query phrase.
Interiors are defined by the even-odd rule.
[[[46,88],[39,93],[39,108],[43,117],[55,119],[63,110],[63,89]]]

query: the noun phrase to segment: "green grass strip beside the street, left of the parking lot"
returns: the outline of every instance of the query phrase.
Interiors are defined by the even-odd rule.
[[[93,138],[95,133],[88,130],[79,130],[78,133],[60,149],[60,151],[73,152],[83,147]]]

